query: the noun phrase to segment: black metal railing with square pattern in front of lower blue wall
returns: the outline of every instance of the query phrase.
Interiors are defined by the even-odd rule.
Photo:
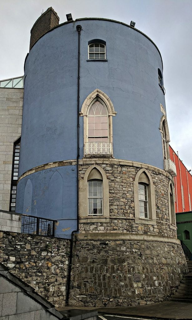
[[[54,237],[55,222],[56,220],[50,220],[23,214],[21,232],[33,235]]]

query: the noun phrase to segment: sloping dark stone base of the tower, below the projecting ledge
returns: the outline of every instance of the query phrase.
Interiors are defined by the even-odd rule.
[[[115,307],[166,300],[187,272],[181,245],[76,239],[70,306]],[[134,281],[134,274],[141,280]]]

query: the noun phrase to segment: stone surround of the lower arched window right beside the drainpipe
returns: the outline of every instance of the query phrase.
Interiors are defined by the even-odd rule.
[[[88,216],[88,178],[91,171],[96,168],[103,180],[103,216]],[[92,176],[92,179],[94,176]],[[96,176],[95,179],[98,177]],[[109,222],[109,182],[105,171],[97,164],[92,164],[85,172],[84,179],[79,180],[79,223],[88,222]]]

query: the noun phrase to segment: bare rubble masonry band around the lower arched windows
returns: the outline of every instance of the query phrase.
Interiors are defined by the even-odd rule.
[[[129,232],[177,237],[176,230],[170,228],[168,208],[168,184],[171,176],[158,168],[148,165],[130,165],[116,159],[94,159],[80,161],[80,179],[92,164],[104,169],[109,181],[109,222],[80,223],[80,233],[87,232]],[[133,181],[137,172],[146,168],[155,187],[157,225],[135,223]],[[173,180],[172,183],[174,184]]]

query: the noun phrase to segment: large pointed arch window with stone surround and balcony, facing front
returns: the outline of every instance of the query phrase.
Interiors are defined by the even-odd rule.
[[[99,89],[94,90],[85,99],[80,115],[84,116],[85,156],[112,156],[112,118],[116,112],[109,97]]]

